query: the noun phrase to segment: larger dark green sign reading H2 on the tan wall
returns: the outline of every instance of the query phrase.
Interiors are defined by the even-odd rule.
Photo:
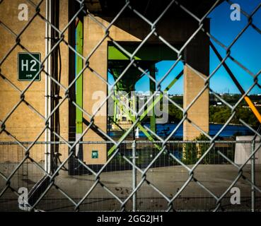
[[[18,81],[32,81],[36,74],[40,71],[41,54],[39,52],[30,53],[37,59],[31,57],[27,52],[18,52]],[[35,81],[40,81],[40,73]]]

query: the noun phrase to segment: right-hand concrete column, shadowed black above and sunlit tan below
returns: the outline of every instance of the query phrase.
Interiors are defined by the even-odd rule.
[[[204,80],[199,74],[204,78],[209,75],[209,38],[203,32],[197,34],[185,51],[184,109],[204,88]],[[209,88],[190,107],[187,118],[203,131],[209,132]],[[186,120],[183,124],[183,140],[191,141],[199,135],[200,131]]]

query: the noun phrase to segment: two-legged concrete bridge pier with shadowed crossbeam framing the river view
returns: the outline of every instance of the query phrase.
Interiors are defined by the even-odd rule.
[[[97,20],[103,25],[107,26],[112,18],[106,18],[103,16],[97,16]],[[169,25],[173,25],[170,29]],[[205,21],[205,30],[209,29],[209,21]],[[158,33],[161,34],[170,44],[180,49],[183,44],[190,38],[190,36],[197,30],[198,24],[195,20],[190,18],[184,18],[175,20],[173,18],[165,18],[158,24]],[[84,49],[83,54],[87,56],[95,45],[104,37],[103,29],[93,22],[90,18],[84,18]],[[128,44],[139,44],[141,40],[149,33],[149,28],[144,21],[137,18],[119,18],[117,23],[110,28],[110,37],[113,40],[119,42],[123,47],[129,47]],[[127,61],[124,57],[113,58],[110,54],[110,40],[104,41],[98,49],[93,53],[89,65],[91,69],[99,73],[107,80],[108,75],[108,61]],[[145,56],[146,60],[162,61],[162,60],[176,60],[177,54],[170,50],[162,42],[158,41],[158,38],[152,36],[146,44],[149,48],[153,49],[157,47],[158,50],[152,50],[149,58]],[[141,48],[142,49],[142,48]],[[130,50],[132,52],[132,49]],[[153,53],[154,52],[154,53]],[[171,53],[170,53],[171,52]],[[138,54],[142,55],[141,52]],[[204,78],[209,75],[209,40],[204,32],[199,32],[195,38],[187,45],[185,52],[182,52],[184,66],[184,108],[190,105],[190,102],[200,93],[204,88]],[[121,59],[122,57],[122,59]],[[137,56],[141,59],[144,56]],[[199,76],[198,73],[201,75]],[[91,81],[91,82],[90,82]],[[98,97],[94,95],[98,94]],[[86,70],[83,76],[83,108],[87,112],[93,112],[95,106],[104,100],[104,94],[108,94],[108,87],[104,81],[100,80],[95,73],[90,70]],[[100,100],[100,101],[99,101]],[[103,131],[107,131],[107,112],[106,105],[100,109],[98,114],[94,117],[95,125],[99,126]],[[187,118],[193,121],[194,124],[199,126],[203,131],[209,131],[209,89],[207,88],[202,95],[194,102],[192,107],[187,111]],[[192,140],[199,136],[200,131],[195,129],[188,120],[183,124],[183,139]],[[97,135],[95,131],[88,131],[84,136],[84,141],[103,141],[103,138]],[[93,159],[91,152],[98,148],[99,158]],[[106,145],[88,145],[83,148],[83,160],[90,165],[102,165],[107,160],[107,148]]]

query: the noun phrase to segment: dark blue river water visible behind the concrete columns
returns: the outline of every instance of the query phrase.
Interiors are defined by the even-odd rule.
[[[145,123],[145,126],[149,127],[149,123]],[[158,136],[168,136],[178,124],[157,124],[157,134]],[[209,124],[209,135],[215,136],[219,132],[223,125],[222,124]],[[240,133],[240,135],[250,135],[252,132],[245,126],[228,125],[219,134],[220,137],[227,138],[233,136],[235,133]],[[119,133],[110,131],[110,136],[117,136]],[[181,125],[177,131],[173,134],[176,138],[182,138],[183,126]],[[144,133],[139,131],[139,137],[146,137]]]

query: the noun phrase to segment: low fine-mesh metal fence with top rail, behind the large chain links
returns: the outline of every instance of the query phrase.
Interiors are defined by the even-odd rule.
[[[71,177],[67,174],[68,165],[64,165],[57,179],[52,181],[50,192],[37,203],[36,210],[69,211],[79,208],[83,211],[115,211],[122,210],[122,204],[124,210],[129,211],[164,211],[170,206],[176,211],[209,211],[215,210],[216,206],[224,211],[260,210],[261,196],[253,193],[255,189],[260,190],[260,177],[256,178],[261,170],[260,157],[248,159],[248,153],[254,150],[253,145],[260,145],[260,141],[215,141],[202,162],[198,162],[198,154],[199,151],[204,154],[209,148],[209,141],[168,141],[166,151],[158,157],[155,143],[122,141],[119,155],[105,167],[79,162],[79,174]],[[38,141],[32,150],[40,153],[43,159],[45,144]],[[108,150],[113,146],[110,141],[81,141],[80,144],[85,147],[95,144],[97,148],[106,145]],[[59,147],[61,151],[66,149],[66,143],[59,142]],[[1,142],[0,148],[1,155],[21,152],[16,142]],[[12,189],[23,184],[30,191],[46,174],[43,161],[30,160],[28,157],[22,165],[23,175],[17,173],[11,176]],[[17,164],[3,162],[0,164],[1,172],[11,174]],[[193,167],[192,178],[190,172]],[[187,186],[183,186],[185,183]],[[4,181],[0,185],[5,186]],[[240,205],[231,203],[232,187],[240,189]],[[1,210],[18,210],[17,198],[7,190],[0,206]]]

